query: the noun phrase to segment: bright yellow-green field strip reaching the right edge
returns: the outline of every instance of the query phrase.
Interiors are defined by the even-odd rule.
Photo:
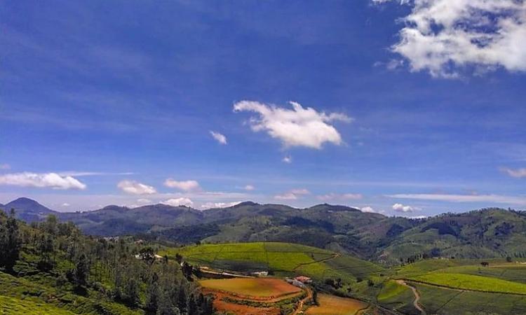
[[[421,276],[412,276],[410,279],[448,288],[526,295],[526,284],[472,274],[433,272]]]

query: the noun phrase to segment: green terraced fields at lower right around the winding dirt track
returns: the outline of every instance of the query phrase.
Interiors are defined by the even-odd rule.
[[[401,267],[394,277],[417,289],[427,314],[526,314],[526,265],[489,260],[483,267],[481,261],[422,260]],[[414,296],[392,281],[384,283],[377,300],[412,314],[407,305]]]

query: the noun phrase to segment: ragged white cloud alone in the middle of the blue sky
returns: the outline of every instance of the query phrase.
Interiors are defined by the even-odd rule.
[[[234,104],[234,111],[252,111],[258,118],[250,119],[254,132],[264,131],[271,137],[279,139],[283,146],[305,146],[321,149],[325,142],[342,144],[342,137],[336,128],[329,123],[340,120],[346,123],[351,118],[342,113],[318,112],[311,107],[303,108],[296,102],[290,102],[292,109],[283,109],[275,105],[252,101],[241,101]]]

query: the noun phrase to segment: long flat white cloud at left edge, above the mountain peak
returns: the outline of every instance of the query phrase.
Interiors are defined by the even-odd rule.
[[[86,189],[86,184],[81,183],[72,176],[60,176],[57,173],[15,173],[0,175],[0,185],[53,188],[53,189]]]

